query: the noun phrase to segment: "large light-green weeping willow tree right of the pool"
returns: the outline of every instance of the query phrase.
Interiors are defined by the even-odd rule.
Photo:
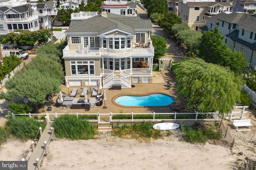
[[[188,109],[198,104],[200,112],[224,114],[240,101],[242,78],[229,68],[191,58],[180,62],[174,73],[177,92],[188,98]]]

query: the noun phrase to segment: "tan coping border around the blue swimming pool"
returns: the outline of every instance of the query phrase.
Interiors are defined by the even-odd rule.
[[[148,96],[150,94],[164,94],[164,95],[170,96],[172,98],[173,102],[166,106],[123,106],[123,105],[117,104],[115,102],[115,99],[120,96]],[[176,97],[169,95],[169,94],[165,94],[163,92],[151,92],[151,93],[146,93],[146,94],[118,94],[111,99],[111,102],[118,107],[124,107],[124,108],[152,108],[152,107],[170,107],[174,104],[174,99],[176,99]]]

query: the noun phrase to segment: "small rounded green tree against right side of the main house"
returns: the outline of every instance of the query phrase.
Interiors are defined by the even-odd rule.
[[[152,44],[155,48],[154,52],[154,62],[158,63],[158,59],[162,56],[164,56],[167,52],[167,42],[163,37],[154,36],[151,38]]]

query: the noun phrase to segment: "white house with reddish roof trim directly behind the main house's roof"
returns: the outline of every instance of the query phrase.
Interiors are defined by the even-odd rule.
[[[127,2],[122,0],[116,1],[102,1],[101,12],[106,11],[113,14],[122,16],[137,16],[136,14],[136,2]]]

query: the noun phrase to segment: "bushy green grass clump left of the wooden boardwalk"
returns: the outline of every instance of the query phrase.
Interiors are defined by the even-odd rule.
[[[34,139],[38,132],[38,128],[46,126],[45,122],[38,122],[33,118],[25,116],[8,115],[6,126],[8,126],[10,133],[22,140]]]

